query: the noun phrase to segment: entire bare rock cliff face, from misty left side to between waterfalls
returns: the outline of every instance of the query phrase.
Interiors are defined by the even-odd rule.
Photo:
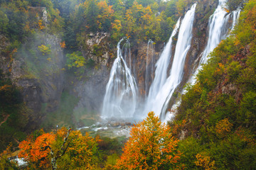
[[[208,34],[208,18],[218,5],[218,0],[199,0],[196,7],[196,18],[193,23],[193,39],[191,49],[186,57],[183,70],[183,81],[176,91],[181,91],[193,72],[193,67],[198,64],[201,52],[206,46]],[[41,18],[45,15],[45,8],[30,8],[30,11],[41,10]],[[43,18],[47,23],[47,18]],[[0,35],[0,50],[9,45],[8,40]],[[85,47],[81,48],[82,55],[86,60],[94,61],[94,65],[86,68],[80,77],[70,77],[65,72],[65,57],[60,47],[60,38],[48,33],[38,32],[22,45],[21,49],[14,54],[13,60],[7,56],[1,56],[1,69],[10,73],[14,84],[21,87],[23,101],[31,108],[31,122],[38,122],[45,113],[53,112],[60,105],[60,96],[63,90],[79,98],[73,111],[82,110],[101,112],[105,88],[110,76],[110,69],[117,57],[116,43],[111,41],[110,33],[87,33]],[[175,43],[172,49],[174,55]],[[44,46],[42,46],[44,45]],[[42,50],[41,47],[46,47]],[[156,43],[149,55],[148,64],[153,72],[149,76],[149,84],[154,79],[154,65],[156,64],[164,43]],[[144,99],[146,94],[146,42],[137,43],[131,40],[132,73],[137,81],[139,94]],[[171,57],[172,61],[173,57]],[[171,63],[170,63],[171,67]],[[171,99],[170,106],[175,97]]]

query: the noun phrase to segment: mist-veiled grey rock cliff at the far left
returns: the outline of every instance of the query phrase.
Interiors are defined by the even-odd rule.
[[[42,45],[48,47],[48,52],[40,50]],[[21,89],[23,101],[31,109],[31,124],[36,125],[43,118],[43,103],[46,111],[58,108],[63,91],[63,67],[60,38],[48,33],[36,33],[28,38],[11,60],[1,55],[1,69]]]

